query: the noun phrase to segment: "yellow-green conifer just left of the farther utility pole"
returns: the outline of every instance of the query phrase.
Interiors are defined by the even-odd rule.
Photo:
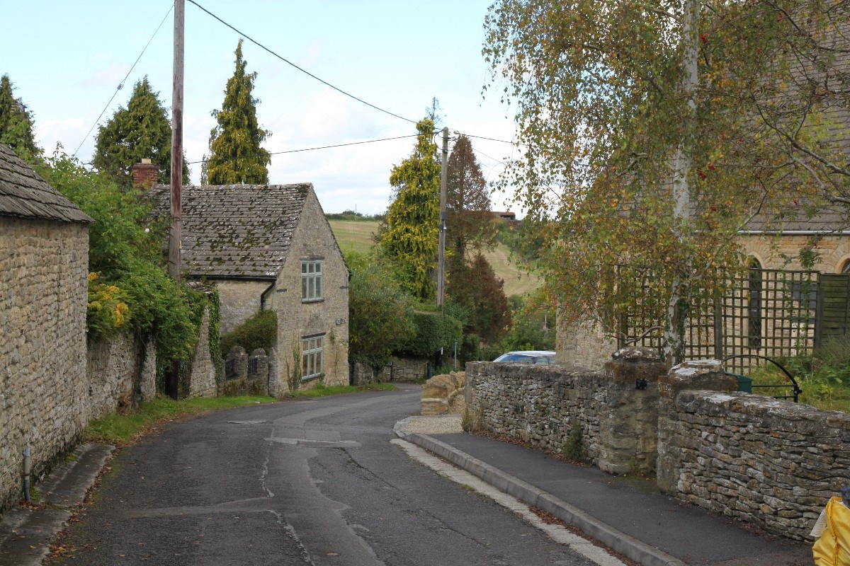
[[[416,124],[419,135],[413,153],[389,176],[397,196],[387,211],[382,247],[396,261],[402,286],[419,299],[433,297],[431,272],[437,259],[439,231],[439,170],[433,120]]]

